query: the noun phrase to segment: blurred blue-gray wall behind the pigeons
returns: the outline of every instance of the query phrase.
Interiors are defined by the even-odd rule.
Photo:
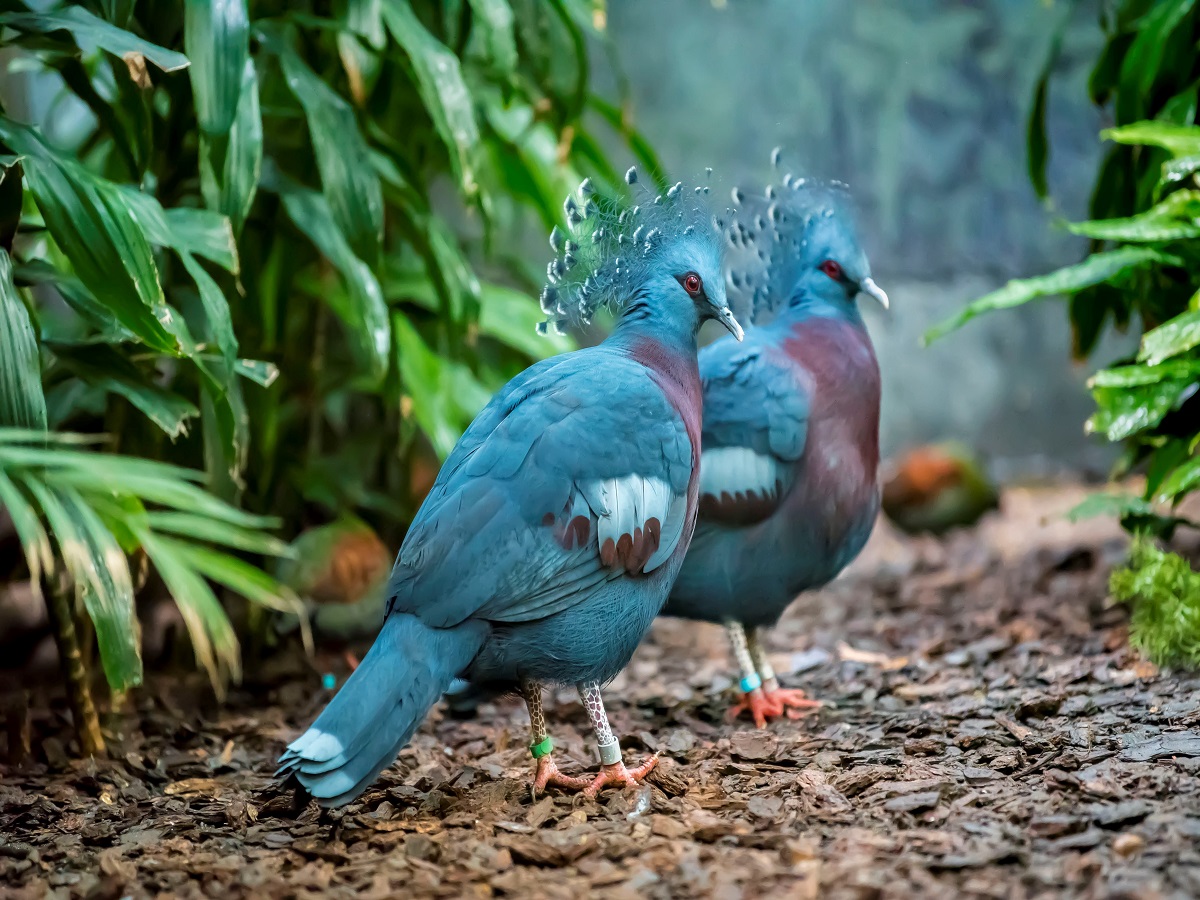
[[[610,0],[608,30],[636,122],[672,173],[762,182],[781,145],[797,174],[850,184],[893,301],[865,310],[886,452],[953,436],[1030,475],[1111,458],[1082,432],[1092,404],[1063,307],[984,318],[929,349],[919,337],[1010,277],[1081,258],[1055,216],[1085,217],[1099,158],[1104,122],[1086,101],[1097,16],[1098,2],[1063,0]],[[1046,210],[1025,121],[1063,17]]]

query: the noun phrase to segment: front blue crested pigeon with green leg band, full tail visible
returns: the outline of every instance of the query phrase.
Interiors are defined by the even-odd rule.
[[[625,179],[636,184],[636,170]],[[742,329],[700,198],[682,185],[637,190],[638,206],[600,198],[588,180],[568,197],[539,330],[586,323],[600,306],[616,326],[600,346],[509,382],[446,458],[400,548],[374,646],[280,760],[280,774],[322,805],[361,794],[456,678],[523,694],[538,790],[595,796],[654,766],[625,768],[600,685],[662,608],[691,540],[697,332],[710,318],[738,338]],[[553,762],[547,682],[578,689],[602,763],[595,779]]]

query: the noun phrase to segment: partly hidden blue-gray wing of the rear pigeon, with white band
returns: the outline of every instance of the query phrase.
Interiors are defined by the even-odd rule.
[[[797,473],[808,436],[802,371],[755,340],[718,341],[700,355],[704,427],[700,462],[703,520],[748,524],[769,516]]]

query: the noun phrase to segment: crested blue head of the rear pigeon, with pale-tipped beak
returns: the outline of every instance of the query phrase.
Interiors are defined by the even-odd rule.
[[[739,215],[730,242],[746,262],[740,272],[731,270],[730,283],[749,298],[756,318],[781,307],[818,306],[857,317],[860,294],[887,308],[844,185],[785,175],[757,198],[734,191],[734,202]]]

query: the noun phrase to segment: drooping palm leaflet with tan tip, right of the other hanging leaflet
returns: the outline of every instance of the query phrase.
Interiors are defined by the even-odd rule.
[[[174,538],[139,535],[150,562],[162,576],[192,640],[196,661],[208,672],[218,698],[224,697],[226,683],[241,679],[241,648],[229,617],[212,588],[184,556],[187,544]]]

